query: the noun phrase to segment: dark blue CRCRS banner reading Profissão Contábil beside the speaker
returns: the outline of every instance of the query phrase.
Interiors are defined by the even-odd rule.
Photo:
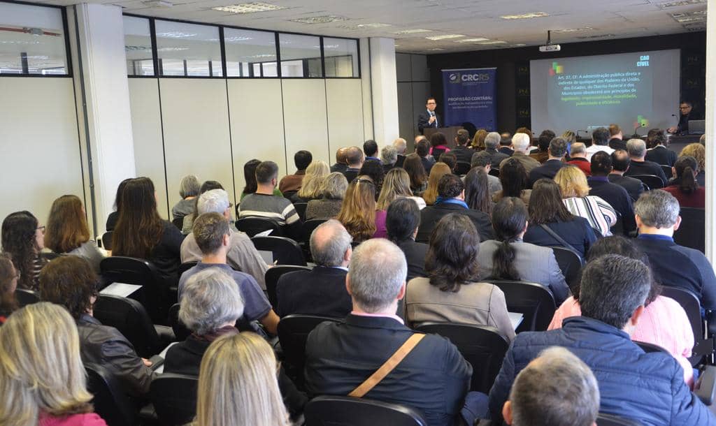
[[[496,68],[443,69],[442,92],[445,126],[465,122],[491,132],[497,124]]]

